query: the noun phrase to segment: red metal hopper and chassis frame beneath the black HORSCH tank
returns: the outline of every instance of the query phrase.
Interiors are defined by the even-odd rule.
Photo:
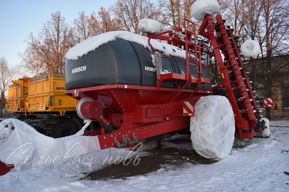
[[[177,89],[174,89],[175,91],[172,91],[173,88],[156,90],[155,87],[117,84],[67,90],[65,93],[78,95],[76,96],[78,99],[81,97],[97,98],[97,101],[103,104],[104,116],[109,120],[111,120],[109,114],[115,113],[115,111],[120,113],[119,120],[123,122],[119,127],[115,127],[116,130],[112,133],[101,134],[103,131],[99,129],[86,133],[94,136],[98,135],[101,149],[105,149],[117,146],[115,139],[121,143],[126,135],[132,141],[134,136],[141,140],[189,127],[189,118],[183,116],[183,102],[197,101],[200,97],[208,95],[208,92],[211,93],[211,91],[183,89],[181,94],[177,94]],[[154,100],[152,100],[151,95],[154,95]],[[144,116],[144,111],[135,110],[136,106],[156,108],[156,105],[157,108],[161,109],[161,120],[155,121],[155,119],[152,119],[151,122],[148,122],[149,118],[147,118],[145,123],[140,123],[139,120],[134,119],[134,115]]]

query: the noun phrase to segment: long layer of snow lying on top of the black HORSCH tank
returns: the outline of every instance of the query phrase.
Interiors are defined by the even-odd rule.
[[[142,46],[151,50],[148,44],[148,38],[137,35],[127,31],[112,31],[107,33],[102,33],[94,37],[88,38],[76,46],[72,47],[65,55],[67,59],[77,60],[79,57],[86,55],[87,53],[94,51],[101,45],[104,45],[110,41],[115,41],[116,39],[123,39],[130,42],[135,42],[141,44]],[[176,46],[169,45],[167,43],[161,43],[155,39],[150,40],[152,46],[158,51],[163,52],[166,55],[176,55],[185,58],[186,51],[179,49]]]

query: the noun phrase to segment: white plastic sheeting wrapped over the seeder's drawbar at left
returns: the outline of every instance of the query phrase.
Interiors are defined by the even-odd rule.
[[[10,136],[0,147],[0,161],[14,164],[16,170],[26,170],[32,166],[45,166],[57,169],[63,166],[68,158],[100,150],[98,137],[68,136],[54,139],[37,132],[33,127],[18,119],[5,119],[0,123],[0,133],[8,124]],[[11,127],[15,129],[12,131]],[[6,127],[7,129],[7,127]],[[21,147],[20,147],[21,146]],[[19,149],[17,149],[19,148]],[[16,150],[17,149],[17,150]],[[12,153],[15,150],[15,153]],[[23,154],[22,154],[23,153]],[[9,157],[9,155],[11,155]],[[29,155],[32,158],[24,161]],[[54,163],[45,160],[55,159]],[[31,162],[33,159],[36,165]],[[43,161],[38,161],[38,160]]]

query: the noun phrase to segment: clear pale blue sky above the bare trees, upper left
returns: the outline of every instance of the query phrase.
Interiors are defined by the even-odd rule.
[[[51,13],[61,11],[67,22],[78,17],[80,11],[86,14],[97,12],[115,0],[0,0],[0,57],[5,56],[9,65],[20,64],[18,53],[23,52],[27,44],[26,37],[40,31],[43,22],[51,18]]]

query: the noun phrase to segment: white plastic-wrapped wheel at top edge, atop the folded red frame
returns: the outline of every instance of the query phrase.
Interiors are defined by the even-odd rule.
[[[219,10],[220,5],[217,0],[197,0],[191,6],[192,16],[197,20],[203,20],[206,14],[214,16]]]

